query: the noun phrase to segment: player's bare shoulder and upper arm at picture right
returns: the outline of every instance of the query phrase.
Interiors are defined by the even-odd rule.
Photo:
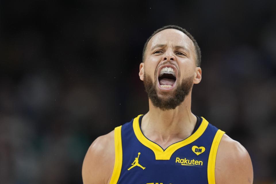
[[[215,166],[216,184],[252,184],[253,167],[246,149],[228,135],[218,146]]]

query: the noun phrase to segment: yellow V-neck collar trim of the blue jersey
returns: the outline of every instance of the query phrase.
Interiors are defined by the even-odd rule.
[[[187,139],[184,139],[183,141],[174,143],[172,145],[170,145],[169,147],[166,148],[166,150],[164,151],[162,149],[162,147],[160,147],[158,144],[150,141],[149,139],[147,139],[139,126],[139,117],[142,116],[139,115],[136,118],[134,118],[133,120],[133,130],[134,133],[137,137],[137,139],[146,147],[150,148],[154,154],[155,154],[155,159],[156,160],[170,160],[170,157],[172,156],[172,154],[178,150],[179,148],[188,145],[190,143],[192,143],[193,141],[195,141],[196,139],[198,139],[206,130],[207,126],[208,126],[208,121],[205,120],[202,117],[202,123],[200,124],[200,126],[198,127],[197,131],[195,133],[193,133],[191,136],[189,136]]]

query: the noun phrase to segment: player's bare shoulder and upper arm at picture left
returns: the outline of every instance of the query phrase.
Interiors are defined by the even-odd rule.
[[[82,168],[84,184],[109,183],[115,162],[114,131],[95,139],[89,147]]]

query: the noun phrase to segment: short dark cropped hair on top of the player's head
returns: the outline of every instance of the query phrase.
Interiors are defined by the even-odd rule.
[[[181,32],[183,32],[184,34],[186,34],[192,41],[193,41],[193,45],[195,46],[195,51],[196,51],[196,65],[200,66],[201,63],[201,51],[200,48],[198,46],[198,43],[196,42],[196,39],[193,38],[193,36],[184,28],[181,28],[179,26],[175,26],[175,25],[168,25],[168,26],[164,26],[162,28],[159,28],[158,30],[154,31],[154,33],[152,33],[152,35],[147,39],[144,48],[143,48],[143,55],[142,55],[142,61],[145,61],[145,51],[147,49],[147,44],[149,43],[150,39],[157,34],[158,32],[165,30],[165,29],[177,29],[180,30]]]

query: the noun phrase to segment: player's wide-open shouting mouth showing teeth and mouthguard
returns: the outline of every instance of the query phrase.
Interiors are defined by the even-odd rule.
[[[172,67],[164,67],[160,70],[158,81],[161,88],[172,88],[176,81],[175,70]]]

